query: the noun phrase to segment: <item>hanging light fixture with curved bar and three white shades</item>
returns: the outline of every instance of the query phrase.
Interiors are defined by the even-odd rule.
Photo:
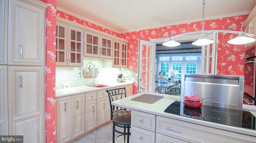
[[[201,31],[194,31],[194,32],[188,32],[188,33],[182,33],[182,34],[179,34],[179,35],[175,35],[175,36],[172,36],[167,38],[167,39],[164,39],[164,43],[163,45],[164,46],[168,46],[168,47],[175,47],[175,46],[178,46],[180,45],[180,43],[174,41],[173,38],[175,37],[180,37],[180,36],[184,36],[184,35],[191,35],[191,34],[198,34],[198,33],[201,33],[201,37],[200,39],[198,39],[197,41],[194,41],[192,44],[193,45],[197,45],[197,46],[204,46],[204,45],[209,45],[211,43],[213,43],[214,41],[213,40],[210,40],[210,39],[206,39],[204,37],[204,33],[211,33],[211,32],[226,32],[226,33],[235,33],[235,34],[238,34],[238,37],[234,38],[234,39],[230,39],[228,41],[229,44],[235,44],[235,45],[242,45],[242,44],[247,44],[247,43],[251,43],[251,42],[254,42],[255,39],[252,38],[254,36],[254,34],[251,34],[251,33],[245,33],[242,31],[242,28],[241,28],[241,31],[231,31],[231,30],[204,30],[204,0],[203,0],[203,19],[202,19],[202,30]],[[250,37],[247,37],[247,36],[250,36]],[[169,41],[168,41],[169,40]]]

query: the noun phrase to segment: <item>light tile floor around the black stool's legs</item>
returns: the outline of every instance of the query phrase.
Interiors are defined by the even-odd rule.
[[[115,135],[118,135],[118,133],[115,133]],[[123,142],[123,136],[116,139],[116,143]],[[96,131],[93,131],[92,133],[89,133],[77,141],[74,141],[73,143],[112,143],[112,122],[104,125]]]

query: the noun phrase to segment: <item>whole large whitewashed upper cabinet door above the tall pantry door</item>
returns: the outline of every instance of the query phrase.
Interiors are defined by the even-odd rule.
[[[44,65],[45,15],[44,5],[9,0],[9,65]]]

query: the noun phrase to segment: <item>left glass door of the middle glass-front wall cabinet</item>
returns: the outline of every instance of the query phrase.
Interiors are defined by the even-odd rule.
[[[100,35],[85,31],[84,32],[84,56],[99,57],[100,55]]]

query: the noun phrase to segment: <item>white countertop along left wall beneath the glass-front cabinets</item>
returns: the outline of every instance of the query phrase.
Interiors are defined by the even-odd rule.
[[[55,90],[55,95],[56,95],[56,98],[60,98],[63,96],[70,96],[70,95],[74,95],[74,94],[81,94],[81,93],[86,93],[86,92],[114,88],[117,86],[133,84],[133,81],[128,80],[126,82],[96,83],[96,84],[103,84],[103,85],[108,85],[108,86],[99,88],[99,87],[90,87],[90,86],[82,85],[82,86],[70,87],[70,88],[66,88],[66,89],[61,88],[61,89]],[[90,84],[87,84],[87,85],[90,85]]]

